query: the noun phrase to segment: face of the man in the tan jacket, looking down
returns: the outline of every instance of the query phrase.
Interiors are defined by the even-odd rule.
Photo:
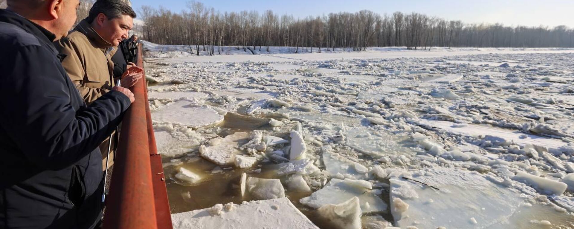
[[[122,15],[119,18],[104,19],[102,29],[98,34],[104,40],[114,46],[118,46],[119,42],[127,39],[127,34],[134,27],[134,19],[130,15]]]

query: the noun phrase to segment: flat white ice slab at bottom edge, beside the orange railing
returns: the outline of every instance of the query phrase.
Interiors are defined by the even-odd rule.
[[[208,209],[172,214],[173,228],[319,229],[287,198],[234,204],[234,208],[223,207],[215,216]]]

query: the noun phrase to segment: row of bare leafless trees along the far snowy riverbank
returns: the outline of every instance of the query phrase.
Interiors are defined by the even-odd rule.
[[[79,22],[86,18],[94,0],[81,0]],[[0,0],[0,7],[6,0]],[[469,24],[446,21],[425,14],[396,12],[379,15],[369,10],[331,13],[322,17],[294,18],[271,10],[224,12],[191,1],[187,9],[174,13],[160,7],[142,7],[138,17],[145,21],[141,35],[157,44],[193,46],[215,54],[222,46],[269,51],[270,46],[366,50],[373,46],[406,46],[409,49],[441,47],[574,47],[574,29],[566,26],[503,26],[500,23]]]

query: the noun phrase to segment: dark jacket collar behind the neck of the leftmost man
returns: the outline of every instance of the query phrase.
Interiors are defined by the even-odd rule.
[[[21,27],[22,29],[28,31],[28,33],[36,36],[38,40],[42,41],[46,46],[48,46],[52,52],[55,54],[58,53],[56,47],[52,44],[52,42],[56,40],[56,35],[44,27],[26,19],[25,17],[22,17],[20,14],[14,13],[10,10],[0,9],[0,22],[6,22]]]

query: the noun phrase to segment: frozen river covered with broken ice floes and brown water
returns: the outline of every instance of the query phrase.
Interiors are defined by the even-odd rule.
[[[574,227],[572,49],[146,47],[176,228]]]

